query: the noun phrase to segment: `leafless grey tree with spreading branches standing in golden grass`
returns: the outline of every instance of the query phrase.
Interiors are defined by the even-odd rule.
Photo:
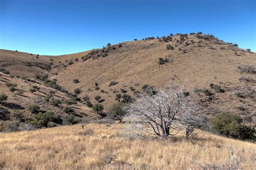
[[[179,133],[184,127],[181,125],[185,125],[188,138],[198,127],[197,111],[197,102],[190,93],[178,86],[169,86],[165,91],[159,89],[154,95],[140,97],[128,107],[127,118],[134,123],[137,134],[144,131],[168,138]]]

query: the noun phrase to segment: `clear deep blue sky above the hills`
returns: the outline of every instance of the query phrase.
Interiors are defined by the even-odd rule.
[[[0,0],[0,49],[62,55],[202,31],[256,51],[256,0]]]

